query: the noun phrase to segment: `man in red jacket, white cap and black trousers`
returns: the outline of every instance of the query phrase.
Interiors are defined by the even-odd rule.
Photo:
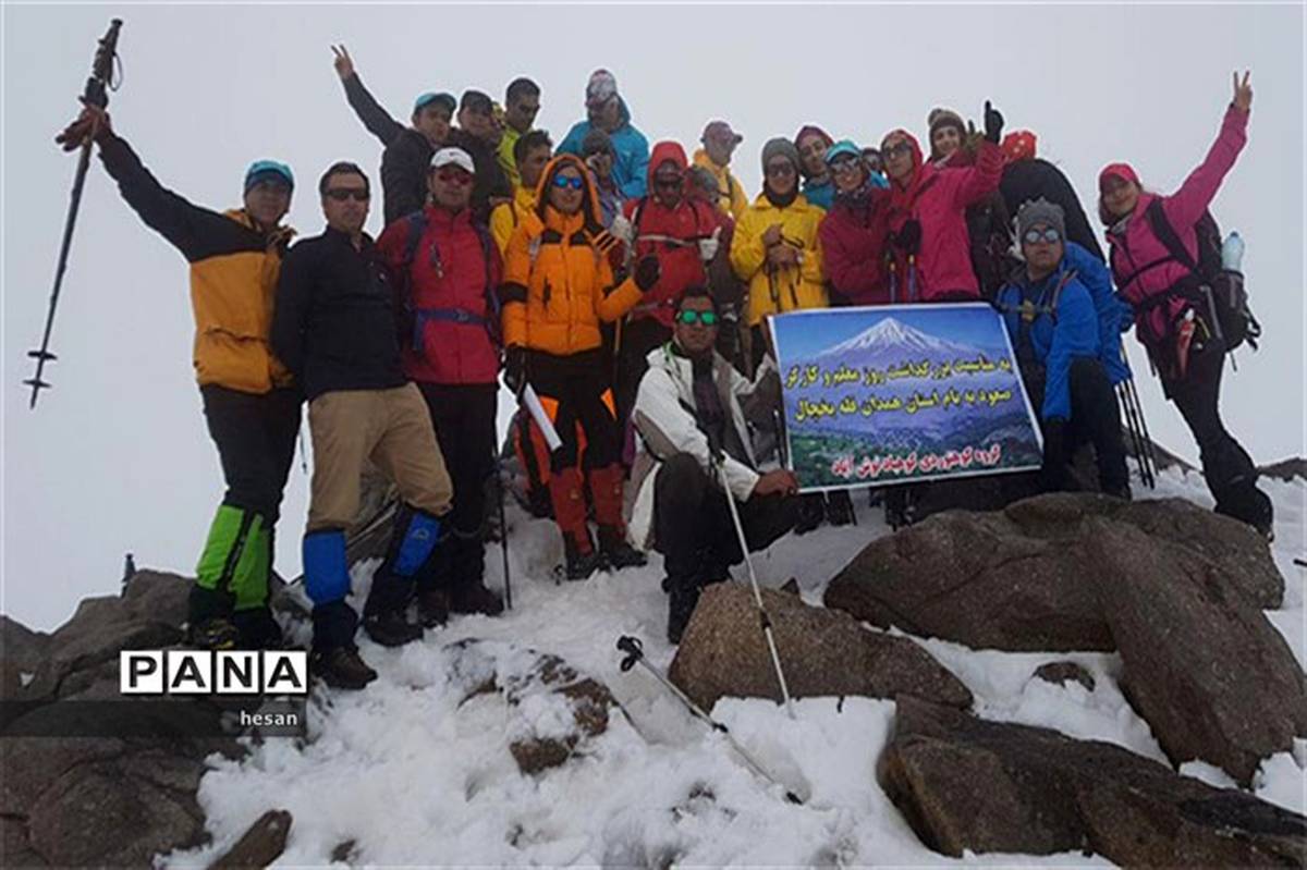
[[[448,613],[498,614],[499,597],[485,587],[481,520],[485,481],[494,468],[499,375],[498,311],[491,294],[503,264],[490,234],[473,222],[472,155],[443,148],[431,157],[422,212],[396,221],[378,240],[401,298],[404,374],[422,391],[437,440],[454,481],[450,541],[434,576],[420,577],[425,626]]]

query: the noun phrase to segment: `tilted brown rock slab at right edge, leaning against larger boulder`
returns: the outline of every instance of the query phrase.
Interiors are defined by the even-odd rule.
[[[1196,550],[1137,529],[1086,528],[1121,688],[1172,763],[1252,784],[1261,759],[1307,737],[1307,679],[1283,636]]]

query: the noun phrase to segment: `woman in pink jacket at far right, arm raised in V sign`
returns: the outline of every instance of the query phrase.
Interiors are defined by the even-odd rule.
[[[1269,537],[1273,512],[1270,499],[1256,486],[1257,468],[1221,422],[1225,345],[1209,323],[1209,307],[1199,300],[1197,276],[1171,256],[1154,230],[1158,218],[1165,221],[1188,259],[1197,261],[1195,225],[1248,141],[1251,108],[1248,73],[1243,81],[1235,73],[1234,99],[1217,141],[1180,189],[1170,196],[1150,193],[1131,166],[1112,163],[1098,176],[1098,212],[1108,227],[1117,290],[1134,308],[1136,336],[1148,349],[1167,398],[1180,409],[1199,443],[1202,475],[1217,500],[1217,512]]]

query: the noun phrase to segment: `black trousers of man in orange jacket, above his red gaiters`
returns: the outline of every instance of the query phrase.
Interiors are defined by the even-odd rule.
[[[558,402],[554,428],[562,447],[549,457],[553,472],[576,468],[576,425],[586,432],[586,470],[608,468],[621,452],[622,434],[617,417],[604,402],[612,389],[610,357],[599,347],[570,357],[538,350],[527,358],[527,378],[541,398]]]

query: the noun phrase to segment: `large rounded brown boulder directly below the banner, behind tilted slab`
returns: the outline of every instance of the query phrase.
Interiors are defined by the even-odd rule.
[[[974,649],[1111,651],[1097,594],[1106,570],[1086,551],[1084,524],[1094,517],[1110,520],[1095,528],[1117,547],[1127,546],[1119,532],[1142,529],[1212,559],[1231,598],[1259,607],[1283,598],[1265,542],[1242,523],[1180,499],[1060,492],[996,513],[937,515],[878,538],[831,580],[825,604]]]

